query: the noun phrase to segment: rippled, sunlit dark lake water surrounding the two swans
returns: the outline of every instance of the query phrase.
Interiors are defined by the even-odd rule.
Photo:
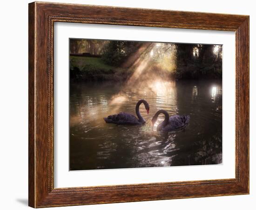
[[[136,116],[139,99],[145,125],[107,124],[118,112]],[[179,131],[156,131],[155,112],[189,115]],[[160,115],[157,124],[164,119]],[[70,84],[70,170],[182,166],[222,163],[222,81],[157,81],[150,88],[106,83]]]

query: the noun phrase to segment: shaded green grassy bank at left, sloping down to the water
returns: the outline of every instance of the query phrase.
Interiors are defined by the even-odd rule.
[[[132,71],[105,64],[101,58],[70,56],[70,78],[73,80],[124,80]]]

